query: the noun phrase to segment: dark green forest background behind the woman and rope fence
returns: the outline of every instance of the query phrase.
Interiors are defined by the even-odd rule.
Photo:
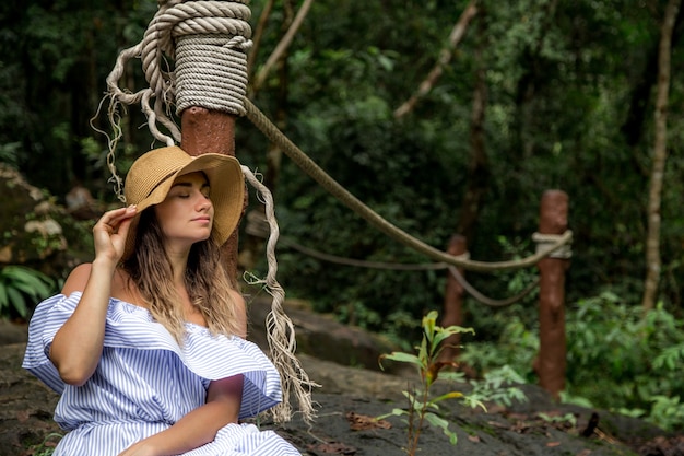
[[[565,191],[574,242],[564,399],[682,429],[684,24],[682,10],[670,10],[671,48],[662,54],[671,3],[679,2],[253,0],[248,96],[353,195],[439,249],[461,234],[473,259],[528,256],[542,194]],[[305,7],[292,44],[262,71]],[[0,161],[57,202],[82,185],[104,206],[118,204],[107,138],[96,131],[110,127],[96,113],[118,52],[141,39],[156,9],[153,0],[0,3]],[[663,56],[667,109],[658,104]],[[126,86],[144,83],[139,67],[126,78]],[[400,110],[421,83],[427,90]],[[122,119],[120,175],[163,145],[135,107]],[[327,194],[247,119],[237,122],[236,154],[275,196],[287,296],[411,349],[421,316],[441,308],[447,273],[356,268],[293,248],[429,262]],[[662,179],[656,207],[652,176]],[[656,256],[647,248],[653,214]],[[249,235],[240,243],[258,244]],[[263,260],[246,258],[245,269],[264,274]],[[649,270],[657,272],[650,297]],[[534,268],[467,272],[496,297],[535,276]],[[532,293],[491,308],[467,297],[475,336],[463,341],[463,360],[479,372],[509,365],[533,382],[536,301]]]

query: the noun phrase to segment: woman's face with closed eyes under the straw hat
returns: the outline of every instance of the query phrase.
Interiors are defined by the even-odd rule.
[[[166,199],[154,207],[167,250],[185,250],[208,239],[214,221],[210,188],[201,172],[176,177]]]

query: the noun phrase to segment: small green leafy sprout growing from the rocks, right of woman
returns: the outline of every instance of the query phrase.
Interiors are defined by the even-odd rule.
[[[390,416],[405,418],[403,421],[408,425],[408,445],[404,451],[411,456],[414,456],[418,448],[418,439],[425,421],[435,428],[441,429],[444,434],[449,437],[449,442],[451,442],[452,445],[457,443],[456,432],[449,429],[449,422],[437,416],[436,411],[439,410],[438,404],[443,400],[463,398],[463,394],[451,391],[441,396],[431,397],[429,390],[438,375],[441,375],[441,378],[462,381],[461,373],[440,373],[443,367],[455,365],[455,363],[439,361],[439,354],[444,348],[448,347],[443,342],[450,336],[474,331],[471,328],[461,328],[459,326],[443,328],[437,326],[436,320],[437,312],[435,311],[429,312],[423,317],[423,340],[421,346],[416,347],[417,354],[392,352],[380,356],[381,369],[382,361],[385,360],[409,363],[417,369],[421,377],[421,385],[418,387],[411,387],[402,391],[404,397],[409,400],[408,410],[396,408],[390,413],[378,417],[378,420]],[[473,402],[471,401],[470,404],[472,405]],[[479,400],[475,401],[475,406],[480,406],[484,409],[484,405]]]

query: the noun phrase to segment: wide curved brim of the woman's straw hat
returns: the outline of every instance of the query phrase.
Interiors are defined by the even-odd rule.
[[[210,199],[214,207],[211,236],[223,245],[237,227],[245,207],[245,177],[237,159],[231,155],[205,153],[164,178],[148,197],[137,203],[138,214],[131,220],[122,260],[130,258],[135,248],[140,213],[163,202],[178,176],[202,172],[207,175]]]

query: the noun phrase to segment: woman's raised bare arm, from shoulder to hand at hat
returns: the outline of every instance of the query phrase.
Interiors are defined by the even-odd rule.
[[[62,293],[82,291],[75,311],[57,331],[50,346],[50,360],[69,385],[83,385],[95,372],[105,338],[105,318],[111,295],[111,279],[123,254],[126,236],[135,208],[106,212],[93,227],[95,259],[76,267]]]

